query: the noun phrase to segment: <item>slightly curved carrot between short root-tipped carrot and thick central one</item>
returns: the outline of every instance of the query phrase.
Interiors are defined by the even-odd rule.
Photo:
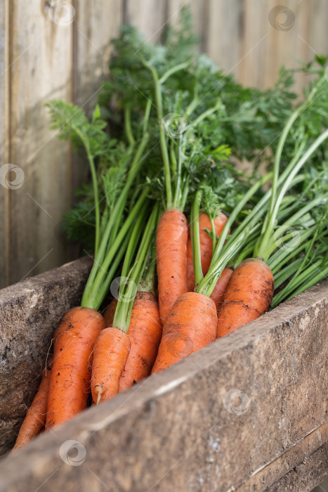
[[[131,311],[128,330],[131,350],[125,369],[119,381],[119,391],[131,388],[150,375],[162,338],[162,326],[155,295],[138,292]]]

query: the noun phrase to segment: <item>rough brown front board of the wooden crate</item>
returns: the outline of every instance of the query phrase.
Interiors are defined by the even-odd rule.
[[[324,282],[35,439],[1,463],[0,490],[226,492],[253,480],[261,492],[297,484],[292,470],[318,456],[314,486],[327,439],[327,316]]]

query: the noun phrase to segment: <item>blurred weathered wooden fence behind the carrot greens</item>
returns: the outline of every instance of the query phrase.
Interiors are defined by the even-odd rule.
[[[244,84],[271,86],[283,63],[328,53],[327,0],[0,3],[0,287],[74,256],[59,223],[87,167],[49,130],[44,103],[63,98],[90,110],[119,25],[132,22],[155,41],[185,4],[202,51]]]

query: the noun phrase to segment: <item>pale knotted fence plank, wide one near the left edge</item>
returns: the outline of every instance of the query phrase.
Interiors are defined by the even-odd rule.
[[[11,283],[67,257],[54,228],[70,207],[69,145],[58,145],[44,103],[70,101],[74,11],[45,5],[11,2],[11,162],[25,172],[11,193]]]

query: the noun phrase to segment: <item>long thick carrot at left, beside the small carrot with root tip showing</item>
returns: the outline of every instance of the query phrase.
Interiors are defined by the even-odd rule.
[[[75,307],[63,317],[53,351],[46,429],[61,424],[86,408],[90,392],[93,350],[105,320],[97,311]]]

